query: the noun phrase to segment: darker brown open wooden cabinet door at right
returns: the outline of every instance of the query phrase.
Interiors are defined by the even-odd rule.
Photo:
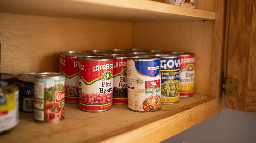
[[[226,107],[256,114],[256,1],[232,1],[227,78],[239,81],[239,95],[226,96]]]

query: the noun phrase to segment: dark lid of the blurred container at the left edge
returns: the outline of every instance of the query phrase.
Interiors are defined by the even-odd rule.
[[[17,84],[17,76],[9,73],[0,73],[0,87]]]

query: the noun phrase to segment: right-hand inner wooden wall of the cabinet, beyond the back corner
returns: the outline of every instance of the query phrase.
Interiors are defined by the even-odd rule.
[[[134,47],[195,53],[195,92],[209,95],[214,21],[137,22]]]

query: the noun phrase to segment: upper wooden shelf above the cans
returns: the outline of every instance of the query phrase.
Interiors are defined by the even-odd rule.
[[[215,13],[150,0],[1,0],[1,13],[108,20],[214,20]]]

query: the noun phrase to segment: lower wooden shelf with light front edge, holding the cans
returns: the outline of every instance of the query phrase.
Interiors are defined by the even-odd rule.
[[[155,112],[133,112],[113,105],[105,112],[81,111],[65,104],[65,120],[55,124],[34,122],[34,113],[20,112],[19,124],[2,142],[160,142],[214,116],[217,99],[195,94]]]

